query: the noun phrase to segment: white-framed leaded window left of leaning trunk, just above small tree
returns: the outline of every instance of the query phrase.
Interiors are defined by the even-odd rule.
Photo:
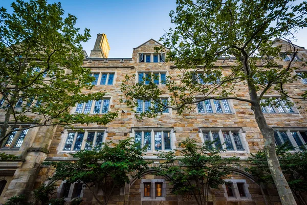
[[[201,129],[203,141],[214,141],[213,147],[226,151],[245,151],[246,140],[240,129]]]

